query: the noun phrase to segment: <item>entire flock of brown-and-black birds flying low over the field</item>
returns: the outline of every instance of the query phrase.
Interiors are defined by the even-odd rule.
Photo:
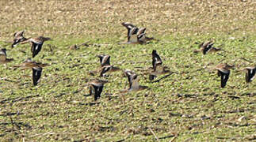
[[[122,23],[122,25],[127,28],[128,30],[128,41],[124,44],[145,44],[148,43],[148,41],[154,39],[153,37],[147,37],[146,36],[146,28],[137,28],[135,25],[130,24],[128,22]],[[43,47],[43,44],[45,41],[51,40],[51,38],[39,36],[36,38],[25,38],[23,36],[24,31],[16,32],[14,33],[14,39],[11,47],[17,46],[17,44],[21,43],[30,43],[31,44],[31,52],[32,52],[32,58],[36,57],[37,54],[39,54],[40,50]],[[213,47],[212,41],[207,43],[201,43],[200,44],[200,50],[195,50],[195,52],[202,52],[203,54],[207,54],[210,52],[216,52],[218,50],[221,50],[220,48]],[[121,70],[120,68],[110,65],[110,56],[109,55],[97,55],[97,57],[100,59],[101,67],[97,70],[91,71],[90,75],[96,75],[99,73],[100,77],[107,76],[106,73],[112,73]],[[6,55],[6,49],[3,48],[0,50],[0,63],[6,64],[8,62],[13,61],[13,58],[7,58]],[[20,65],[14,65],[14,68],[21,68],[21,69],[32,69],[32,84],[36,85],[38,84],[42,70],[45,66],[48,64],[40,63],[40,62],[33,62],[31,58],[28,58],[25,60],[25,62],[22,62]],[[224,88],[227,84],[227,80],[230,76],[230,69],[234,69],[234,65],[228,65],[226,63],[219,65],[216,65],[215,68],[217,69],[218,77],[221,78],[221,84],[220,87]],[[152,51],[152,67],[147,74],[149,74],[149,80],[155,80],[155,78],[159,75],[167,74],[169,75],[173,72],[171,72],[168,67],[162,65],[162,59],[160,58],[159,54],[156,50]],[[246,71],[246,82],[250,82],[253,80],[254,75],[256,73],[256,65],[253,67],[246,67],[243,69],[243,71]],[[147,86],[139,85],[139,77],[138,75],[133,72],[132,70],[126,69],[124,70],[124,75],[128,77],[128,84],[129,88],[124,89],[121,91],[121,93],[125,92],[133,92],[133,91],[139,91],[143,89],[147,89]],[[90,87],[90,95],[94,95],[94,100],[96,101],[101,96],[101,92],[103,90],[104,84],[107,83],[107,80],[92,80],[88,82],[88,85]]]

